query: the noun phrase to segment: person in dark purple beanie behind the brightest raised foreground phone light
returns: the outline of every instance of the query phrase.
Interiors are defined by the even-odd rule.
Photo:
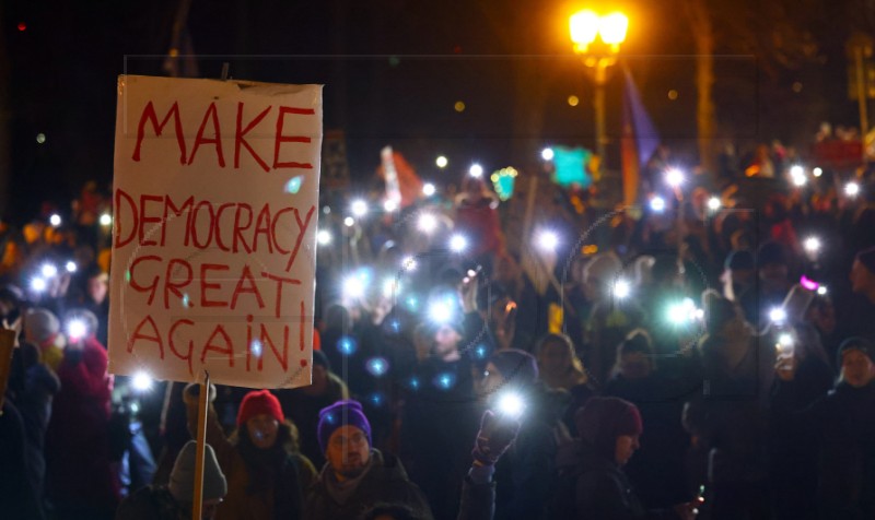
[[[516,442],[495,466],[495,518],[536,518],[550,497],[556,434],[567,394],[548,391],[538,379],[535,357],[513,348],[489,358],[478,392],[486,406],[501,409],[505,400],[518,400],[524,407]]]

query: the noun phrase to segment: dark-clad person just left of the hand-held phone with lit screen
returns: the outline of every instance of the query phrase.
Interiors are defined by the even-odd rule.
[[[696,473],[704,478],[711,518],[769,518],[767,410],[775,348],[716,292],[705,292],[703,303],[702,386],[684,409],[684,426],[704,459]]]

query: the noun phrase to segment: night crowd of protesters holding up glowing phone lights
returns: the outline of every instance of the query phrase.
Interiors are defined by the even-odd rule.
[[[203,518],[875,518],[875,184],[769,153],[612,211],[324,191],[313,383],[210,388]],[[3,518],[191,516],[200,387],[107,373],[109,211],[0,229]]]

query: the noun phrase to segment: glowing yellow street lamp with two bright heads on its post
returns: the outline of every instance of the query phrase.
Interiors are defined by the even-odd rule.
[[[605,163],[605,84],[608,79],[608,67],[617,63],[620,44],[626,40],[629,19],[619,12],[599,16],[595,11],[583,10],[571,15],[569,20],[571,42],[574,52],[581,56],[586,71],[595,84],[593,107],[595,109],[595,153],[598,155],[598,172]],[[596,37],[602,44],[592,48]]]

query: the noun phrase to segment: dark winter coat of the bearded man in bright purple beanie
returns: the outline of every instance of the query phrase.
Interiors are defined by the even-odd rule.
[[[417,515],[430,519],[431,508],[422,492],[407,478],[400,461],[394,456],[371,451],[371,468],[362,477],[349,499],[339,504],[328,492],[326,480],[332,471],[326,464],[318,480],[310,488],[304,506],[307,520],[354,519],[376,504],[401,504],[410,507]]]

